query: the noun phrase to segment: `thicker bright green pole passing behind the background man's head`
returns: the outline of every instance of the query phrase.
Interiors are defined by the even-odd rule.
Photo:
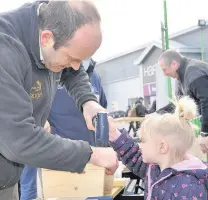
[[[169,38],[168,38],[168,14],[167,14],[167,4],[166,0],[163,0],[163,7],[164,7],[164,31],[165,31],[165,49],[169,49]],[[168,82],[168,97],[172,99],[172,84],[171,78],[167,78]]]

